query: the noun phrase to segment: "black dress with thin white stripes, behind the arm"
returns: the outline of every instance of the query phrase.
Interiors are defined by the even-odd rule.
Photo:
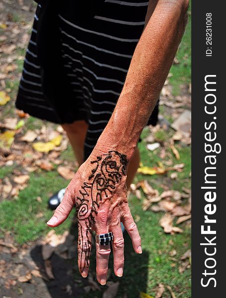
[[[56,64],[63,64],[70,83],[71,97],[62,99],[62,105],[68,106],[68,111],[65,110],[62,116],[43,96],[36,49],[37,24],[42,10],[40,4],[24,61],[16,107],[55,123],[85,119],[88,123],[84,145],[87,158],[107,125],[122,90],[132,55],[144,29],[149,2],[105,0],[96,15],[84,20],[76,20],[72,2],[75,0],[61,1],[58,7],[62,57],[56,61]],[[71,103],[74,101],[77,110],[73,111],[72,119]],[[149,124],[156,121],[157,107]]]

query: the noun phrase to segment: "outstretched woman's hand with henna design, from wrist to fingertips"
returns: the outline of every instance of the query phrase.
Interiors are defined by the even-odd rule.
[[[47,223],[62,224],[76,206],[78,224],[78,268],[83,277],[88,274],[92,230],[96,234],[113,232],[114,272],[123,275],[124,239],[122,222],[128,231],[134,250],[142,253],[141,238],[127,200],[126,155],[117,151],[98,152],[79,167],[68,185],[64,199]],[[101,285],[106,283],[110,245],[96,242],[96,275]]]

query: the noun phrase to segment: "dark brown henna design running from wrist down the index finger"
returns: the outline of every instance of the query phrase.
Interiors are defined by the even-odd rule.
[[[99,203],[103,198],[109,198],[116,183],[121,181],[122,175],[126,175],[128,162],[127,156],[117,151],[109,151],[108,154],[97,156],[96,160],[91,161],[95,167],[91,170],[88,181],[83,182],[75,203],[78,219],[78,247],[81,247],[81,252],[78,250],[78,254],[81,254],[79,264],[81,273],[89,266],[92,224],[95,224]]]

